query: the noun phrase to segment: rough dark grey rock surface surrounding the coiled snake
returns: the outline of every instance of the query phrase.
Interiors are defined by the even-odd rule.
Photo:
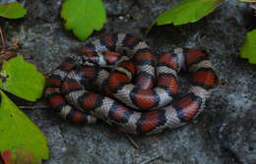
[[[143,36],[157,16],[177,2],[104,1],[108,21],[94,36],[104,31]],[[69,55],[70,48],[83,44],[63,28],[61,4],[62,0],[28,0],[28,16],[3,26],[8,41],[20,39],[19,54],[44,75]],[[158,52],[173,46],[205,50],[219,74],[220,86],[206,110],[178,130],[152,137],[128,137],[104,123],[84,127],[65,123],[49,109],[25,111],[48,139],[50,158],[44,163],[255,164],[256,66],[238,57],[245,33],[255,28],[255,23],[247,4],[226,1],[195,24],[154,27],[146,37]],[[32,105],[45,105],[45,101]]]

